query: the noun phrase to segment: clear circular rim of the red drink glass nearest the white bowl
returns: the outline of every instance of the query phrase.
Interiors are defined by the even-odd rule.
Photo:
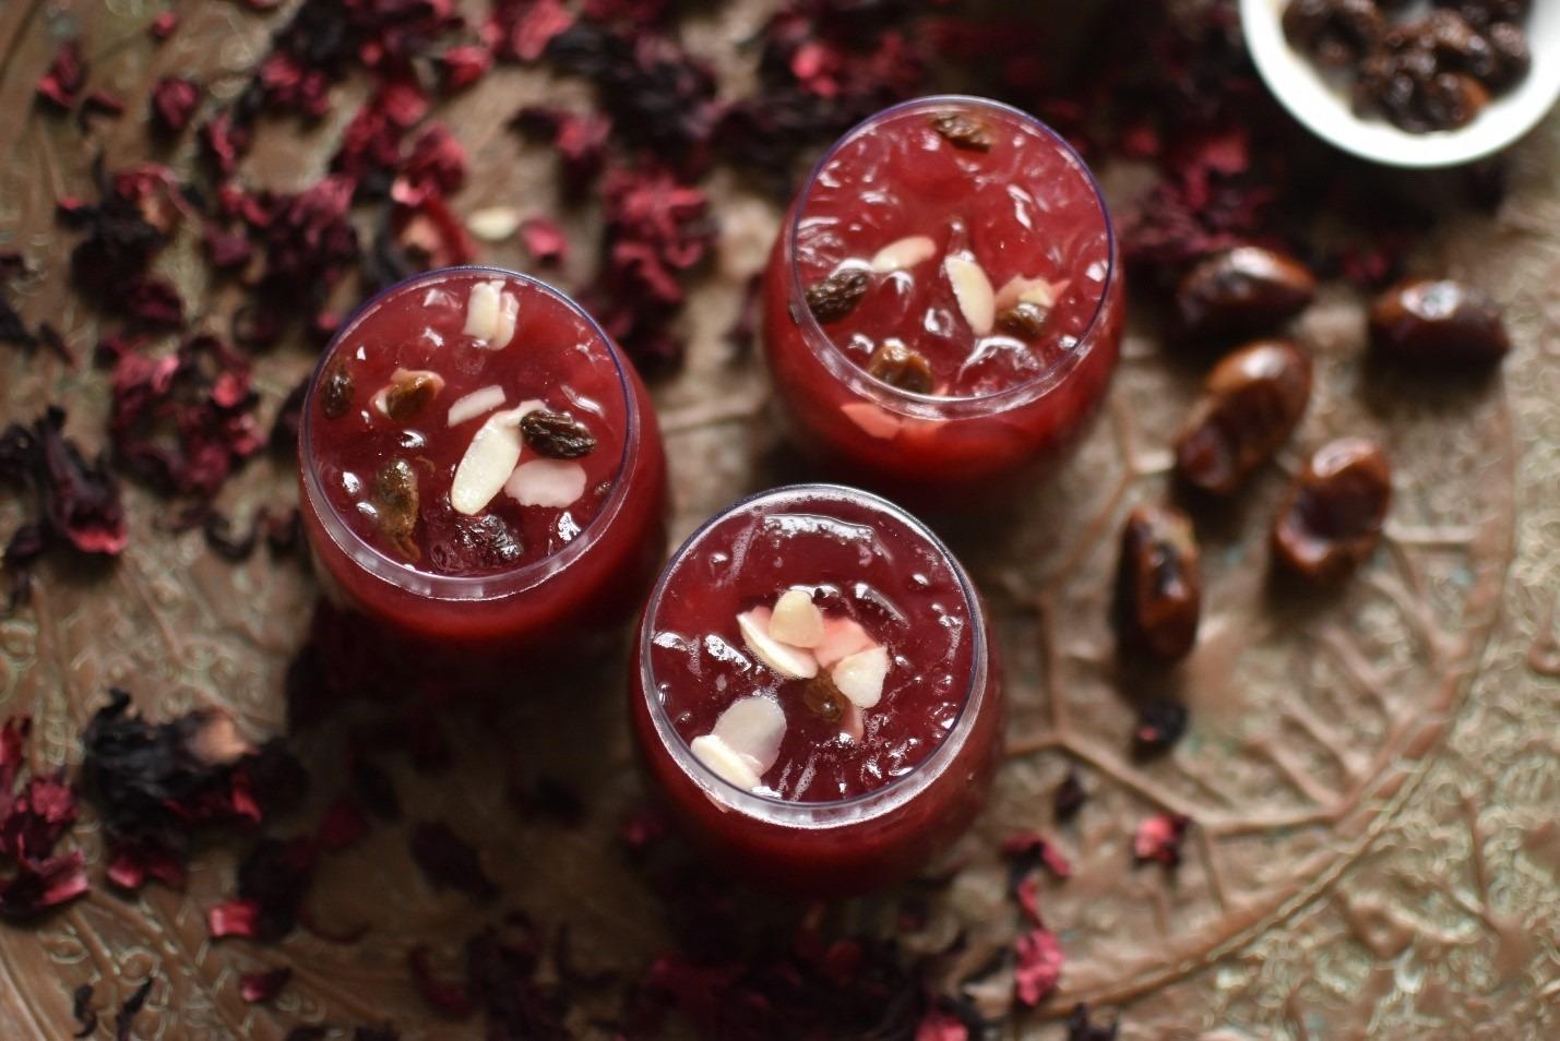
[[[1089,315],[1089,321],[1078,337],[1078,344],[1073,351],[1065,352],[1062,357],[1055,358],[1041,372],[1023,380],[1022,383],[1014,383],[1012,386],[1003,386],[986,394],[922,394],[917,391],[903,390],[886,380],[872,376],[866,368],[858,365],[850,355],[835,343],[833,337],[824,330],[813,312],[802,305],[800,301],[805,296],[805,287],[802,285],[800,266],[796,260],[796,238],[802,226],[803,204],[817,182],[819,175],[824,167],[835,157],[835,154],[856,140],[861,134],[867,132],[878,123],[900,117],[906,112],[914,112],[917,109],[928,109],[938,106],[972,106],[995,109],[1020,123],[1039,132],[1041,137],[1050,140],[1069,161],[1069,165],[1083,175],[1084,184],[1089,185],[1094,193],[1095,207],[1100,212],[1100,221],[1104,228],[1106,256],[1104,256],[1104,279],[1101,281],[1100,296],[1094,304],[1094,313]],[[897,104],[891,104],[880,112],[874,112],[867,118],[861,120],[849,131],[839,136],[839,139],[828,146],[828,151],[819,157],[813,165],[802,187],[797,190],[796,203],[791,206],[789,213],[785,218],[785,224],[780,229],[783,237],[782,254],[786,265],[786,304],[789,316],[802,330],[802,340],[808,344],[808,349],[817,357],[817,360],[828,368],[841,382],[846,382],[852,390],[863,393],[864,396],[877,399],[878,404],[897,404],[909,405],[911,411],[925,411],[928,408],[948,408],[948,407],[966,407],[977,408],[981,413],[1000,411],[1003,408],[1017,407],[1028,404],[1034,397],[1041,397],[1050,393],[1062,377],[1072,372],[1078,365],[1083,363],[1095,346],[1098,346],[1098,337],[1094,333],[1106,319],[1106,304],[1109,302],[1111,293],[1114,291],[1114,284],[1119,277],[1120,257],[1117,256],[1115,242],[1115,226],[1111,221],[1111,210],[1104,204],[1104,193],[1100,190],[1100,182],[1094,176],[1094,170],[1084,162],[1078,150],[1073,148],[1065,137],[1051,129],[1044,120],[1023,109],[1008,104],[1006,101],[997,101],[994,98],[983,98],[972,94],[930,94],[919,98],[909,98]]]

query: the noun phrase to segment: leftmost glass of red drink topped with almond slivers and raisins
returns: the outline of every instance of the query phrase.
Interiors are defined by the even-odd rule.
[[[621,622],[661,558],[644,386],[521,274],[446,268],[368,301],[320,360],[300,453],[328,589],[446,658]]]

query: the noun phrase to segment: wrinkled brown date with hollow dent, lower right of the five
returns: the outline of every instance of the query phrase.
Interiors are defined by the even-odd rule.
[[[1365,438],[1338,438],[1310,457],[1273,522],[1273,556],[1317,584],[1345,578],[1371,555],[1392,503],[1392,466]]]

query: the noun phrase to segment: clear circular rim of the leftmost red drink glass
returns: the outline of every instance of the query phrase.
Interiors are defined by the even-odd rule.
[[[622,453],[618,458],[618,469],[612,475],[612,491],[607,494],[607,500],[602,503],[596,516],[591,517],[590,524],[580,528],[579,535],[576,535],[569,544],[558,552],[534,559],[529,564],[521,564],[512,570],[495,572],[491,575],[434,575],[418,570],[417,567],[410,567],[370,544],[363,536],[357,535],[357,531],[354,531],[342,514],[331,505],[331,500],[324,494],[324,485],[320,480],[314,452],[307,450],[314,429],[314,401],[320,388],[320,377],[324,372],[324,366],[335,355],[343,337],[356,329],[357,324],[390,295],[423,282],[462,274],[495,274],[513,279],[544,293],[546,296],[551,296],[554,301],[577,315],[585,323],[585,327],[596,335],[602,346],[605,346],[607,357],[612,360],[613,372],[618,377],[618,390],[622,394],[624,402]],[[535,589],[579,559],[579,556],[601,538],[612,519],[622,510],[622,503],[627,499],[629,482],[624,480],[624,477],[629,471],[630,447],[643,435],[641,424],[643,419],[640,415],[640,405],[629,382],[627,360],[622,357],[612,337],[607,335],[607,330],[601,327],[601,323],[597,323],[568,293],[532,274],[524,274],[510,268],[487,263],[462,263],[445,268],[432,268],[429,271],[418,271],[415,274],[409,274],[399,282],[395,282],[393,285],[387,285],[354,307],[346,321],[343,321],[340,329],[335,330],[324,351],[320,352],[320,358],[315,362],[314,371],[309,376],[309,388],[304,391],[303,418],[298,427],[300,472],[304,478],[304,494],[310,500],[309,508],[320,519],[320,527],[324,530],[326,536],[335,544],[337,549],[342,550],[343,555],[348,556],[348,559],[379,581],[434,600],[496,600],[516,592]]]

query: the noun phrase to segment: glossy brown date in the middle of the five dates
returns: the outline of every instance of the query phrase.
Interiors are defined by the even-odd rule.
[[[1176,439],[1182,480],[1228,496],[1306,415],[1310,358],[1287,340],[1257,340],[1214,366]]]

